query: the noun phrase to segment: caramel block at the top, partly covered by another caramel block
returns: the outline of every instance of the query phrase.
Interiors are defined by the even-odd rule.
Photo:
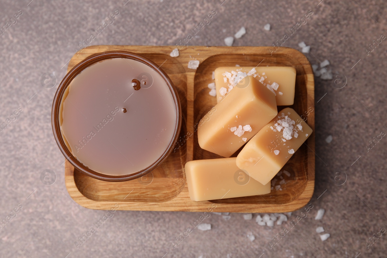
[[[226,75],[223,75],[226,73]],[[277,106],[289,106],[294,102],[296,69],[294,67],[218,67],[215,69],[216,101],[233,89],[243,76],[253,75],[276,94]],[[223,88],[223,89],[222,89]]]

